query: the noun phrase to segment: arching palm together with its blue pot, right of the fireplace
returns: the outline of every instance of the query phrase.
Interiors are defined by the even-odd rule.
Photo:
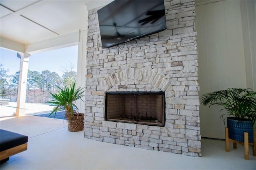
[[[251,89],[228,88],[205,93],[202,105],[220,105],[231,117],[227,118],[229,138],[244,142],[244,132],[248,132],[249,142],[253,142],[253,125],[256,121],[256,92]],[[222,115],[223,117],[223,115]]]

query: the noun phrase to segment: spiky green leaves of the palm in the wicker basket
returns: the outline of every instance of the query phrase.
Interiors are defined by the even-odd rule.
[[[78,89],[75,89],[75,82],[71,87],[68,87],[67,85],[65,85],[63,89],[58,86],[56,87],[58,88],[57,93],[50,93],[52,101],[47,102],[50,103],[51,106],[55,106],[50,115],[54,113],[55,118],[57,111],[66,111],[66,117],[68,115],[74,116],[74,110],[78,111],[78,107],[75,105],[74,101],[78,99],[82,100],[82,97],[84,96],[83,93],[85,91],[84,88],[78,87]]]

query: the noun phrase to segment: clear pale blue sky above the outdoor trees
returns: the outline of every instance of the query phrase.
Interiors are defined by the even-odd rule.
[[[75,65],[73,71],[77,71],[77,56],[77,45],[36,53],[29,57],[28,69],[40,73],[41,71],[49,70],[50,72],[58,73],[61,77],[63,74],[61,67],[70,65],[70,63]],[[4,69],[9,69],[8,75],[14,75],[20,69],[20,59],[17,57],[16,51],[0,48],[0,63],[3,64]]]

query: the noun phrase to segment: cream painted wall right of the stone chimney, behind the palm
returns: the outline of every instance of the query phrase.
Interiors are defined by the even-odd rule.
[[[253,14],[255,17],[255,12]],[[250,65],[250,61],[255,60],[255,53],[254,57],[245,58],[244,45],[247,51],[255,46],[248,47],[249,38],[243,38],[242,23],[240,1],[225,0],[196,6],[200,96],[229,87],[246,88],[246,82],[250,82],[246,78],[253,76],[253,68],[255,73],[255,63]],[[225,111],[220,112],[220,109],[200,106],[202,136],[225,138],[225,125],[220,119]]]

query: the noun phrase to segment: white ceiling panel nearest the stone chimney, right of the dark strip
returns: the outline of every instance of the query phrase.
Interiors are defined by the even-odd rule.
[[[23,11],[22,15],[58,34],[87,28],[86,6],[83,1],[39,2],[32,9]]]

